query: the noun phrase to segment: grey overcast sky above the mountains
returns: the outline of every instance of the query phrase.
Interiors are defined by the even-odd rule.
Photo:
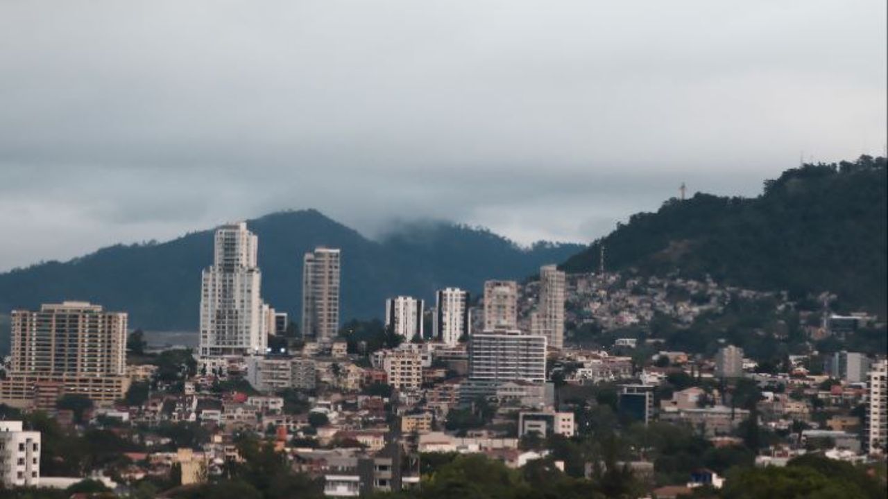
[[[882,154],[884,0],[0,2],[0,270],[316,208],[588,242]],[[261,243],[261,242],[260,242]]]

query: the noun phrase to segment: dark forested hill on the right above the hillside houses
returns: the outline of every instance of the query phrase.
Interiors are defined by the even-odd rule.
[[[844,311],[885,316],[885,158],[805,164],[765,181],[756,198],[696,194],[671,199],[571,257],[568,272],[594,272],[600,244],[610,270],[678,272],[802,297],[829,290]]]

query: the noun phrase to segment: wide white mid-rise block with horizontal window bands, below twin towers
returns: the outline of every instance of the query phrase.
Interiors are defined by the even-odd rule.
[[[517,329],[484,331],[469,338],[469,378],[481,381],[546,380],[546,338]]]

